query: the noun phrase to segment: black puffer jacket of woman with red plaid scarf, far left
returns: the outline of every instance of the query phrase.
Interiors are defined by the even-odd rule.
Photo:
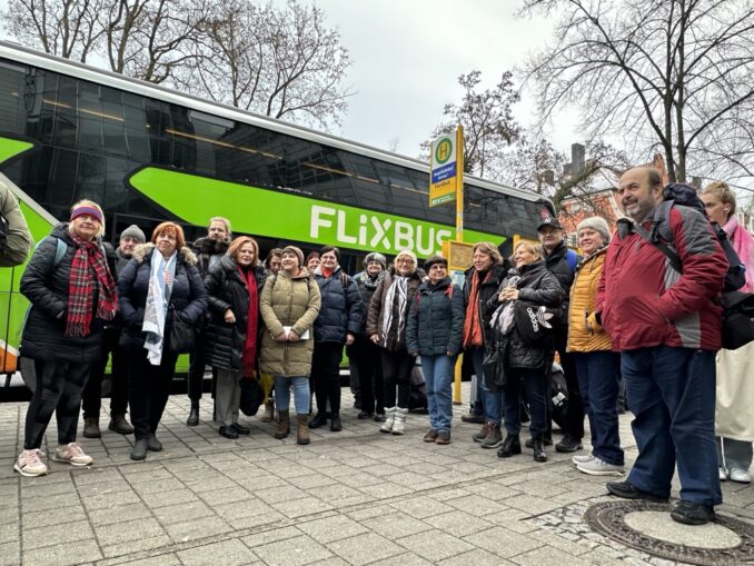
[[[56,266],[58,240],[65,242],[67,249]],[[82,363],[93,361],[102,355],[105,320],[97,316],[91,321],[88,336],[63,336],[75,254],[76,244],[68,231],[68,222],[59,224],[40,242],[23,271],[21,294],[31,302],[20,347],[21,355],[27,358]],[[93,269],[90,272],[92,278],[96,277]],[[96,314],[97,294],[92,305]]]

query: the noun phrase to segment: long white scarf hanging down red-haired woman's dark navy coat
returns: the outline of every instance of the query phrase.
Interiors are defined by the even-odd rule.
[[[149,270],[149,290],[145,306],[141,330],[147,332],[143,347],[147,349],[147,359],[152,366],[162,361],[162,346],[165,344],[165,319],[168,315],[170,291],[176,277],[176,259],[173,252],[167,261],[162,254],[155,250]]]

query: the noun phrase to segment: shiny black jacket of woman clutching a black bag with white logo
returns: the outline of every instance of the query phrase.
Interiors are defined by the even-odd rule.
[[[555,275],[545,267],[544,261],[535,261],[519,270],[518,299],[535,305],[557,308],[565,300],[565,291]],[[508,278],[500,284],[502,291],[508,285]],[[489,305],[497,308],[497,294],[492,297]],[[539,342],[526,342],[522,339],[516,327],[507,336],[498,337],[497,346],[505,352],[505,365],[509,368],[545,369],[553,363],[555,345],[553,338]]]

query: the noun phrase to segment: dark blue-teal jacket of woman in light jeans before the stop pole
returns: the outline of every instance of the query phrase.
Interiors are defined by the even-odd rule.
[[[464,294],[446,277],[437,285],[424,281],[410,306],[406,326],[408,351],[437,356],[460,351],[464,339]]]

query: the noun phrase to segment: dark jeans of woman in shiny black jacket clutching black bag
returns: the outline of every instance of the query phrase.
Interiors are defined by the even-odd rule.
[[[543,436],[547,430],[547,376],[543,369],[510,369],[503,388],[503,414],[505,430],[510,436],[520,433],[522,387],[526,388],[529,401],[529,431]]]

